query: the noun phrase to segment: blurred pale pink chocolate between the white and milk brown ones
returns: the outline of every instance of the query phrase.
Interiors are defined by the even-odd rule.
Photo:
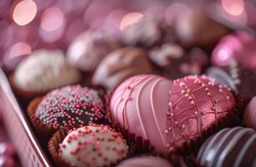
[[[113,35],[100,29],[90,29],[74,39],[67,57],[69,63],[84,72],[92,72],[107,53],[119,46],[120,43]]]

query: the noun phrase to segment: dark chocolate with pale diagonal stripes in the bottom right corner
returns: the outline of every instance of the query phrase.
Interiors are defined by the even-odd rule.
[[[223,129],[207,139],[197,154],[202,166],[256,166],[256,133],[253,129]]]

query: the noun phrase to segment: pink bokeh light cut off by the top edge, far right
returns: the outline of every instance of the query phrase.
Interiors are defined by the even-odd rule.
[[[243,0],[222,0],[222,5],[224,10],[233,16],[238,16],[244,11]]]

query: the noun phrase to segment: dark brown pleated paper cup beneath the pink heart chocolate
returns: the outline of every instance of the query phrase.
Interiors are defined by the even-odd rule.
[[[155,154],[157,156],[164,157],[166,159],[171,159],[172,154],[197,154],[198,149],[200,149],[200,146],[202,143],[212,134],[215,134],[218,132],[218,130],[227,128],[227,127],[233,127],[235,125],[241,124],[241,121],[239,119],[239,114],[241,114],[241,110],[243,109],[243,101],[236,101],[238,102],[232,109],[232,112],[227,114],[223,119],[220,119],[218,121],[218,124],[212,124],[211,127],[207,128],[206,130],[202,131],[202,134],[198,136],[195,139],[192,139],[189,143],[184,143],[180,149],[176,149],[175,152],[172,152],[170,154],[164,155],[164,154],[158,154],[155,151],[154,146],[151,145],[149,140],[142,139],[141,136],[136,136],[136,134],[129,133],[128,129],[123,129],[119,123],[114,123],[113,119],[111,118],[110,114],[110,97],[111,93],[108,93],[105,95],[105,103],[106,103],[106,111],[107,111],[107,117],[109,119],[110,125],[120,131],[125,139],[127,139],[128,142],[135,144],[135,154]]]

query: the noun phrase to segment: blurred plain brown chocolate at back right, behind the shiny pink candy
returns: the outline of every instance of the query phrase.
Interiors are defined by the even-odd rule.
[[[211,48],[230,30],[223,24],[209,18],[200,9],[181,14],[177,18],[175,30],[178,38],[186,46]]]

